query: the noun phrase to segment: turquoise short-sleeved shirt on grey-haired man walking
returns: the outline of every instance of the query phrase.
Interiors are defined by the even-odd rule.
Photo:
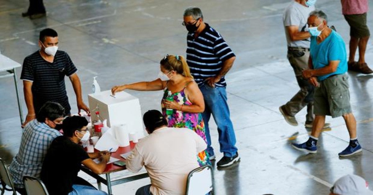
[[[332,75],[344,74],[347,72],[346,45],[341,35],[332,30],[332,33],[320,44],[317,44],[316,38],[316,36],[312,36],[310,44],[310,56],[312,58],[313,69],[323,68],[329,65],[329,61],[339,61],[335,72],[317,76],[317,80],[323,81]]]

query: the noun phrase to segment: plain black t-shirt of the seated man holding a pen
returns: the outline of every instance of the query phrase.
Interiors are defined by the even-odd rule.
[[[71,192],[82,161],[89,158],[87,152],[68,137],[56,137],[41,168],[41,180],[49,194],[66,195]]]

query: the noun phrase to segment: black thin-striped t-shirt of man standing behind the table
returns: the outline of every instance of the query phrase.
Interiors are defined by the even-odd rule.
[[[65,108],[65,114],[70,114],[65,76],[70,77],[76,71],[78,70],[64,51],[57,51],[53,63],[44,60],[39,51],[25,58],[21,79],[32,82],[35,113],[38,113],[44,103],[53,101]]]

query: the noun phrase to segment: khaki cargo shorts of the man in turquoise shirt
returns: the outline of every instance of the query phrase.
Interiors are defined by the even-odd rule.
[[[313,113],[315,115],[340,117],[352,113],[350,91],[348,91],[348,76],[333,75],[320,81],[315,88]]]

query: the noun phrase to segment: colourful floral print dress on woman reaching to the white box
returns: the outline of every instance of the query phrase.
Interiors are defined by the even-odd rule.
[[[186,85],[188,85],[190,82],[188,82]],[[186,87],[185,85],[185,87]],[[184,93],[185,87],[179,91],[173,93],[171,96],[173,98],[173,101],[179,103],[180,105],[192,105],[192,103],[188,100]],[[163,99],[166,100],[168,96],[169,90],[167,87],[164,89]],[[193,130],[195,133],[197,133],[199,136],[202,137],[203,140],[206,141],[206,135],[205,135],[205,126],[202,118],[201,113],[187,113],[180,110],[173,110],[172,114],[167,115],[166,108],[163,107],[162,104],[162,114],[166,118],[168,122],[168,127],[176,127],[176,128],[188,128]],[[211,162],[209,160],[209,156],[206,150],[203,152],[198,153],[197,160],[200,166],[204,165],[211,165]]]

